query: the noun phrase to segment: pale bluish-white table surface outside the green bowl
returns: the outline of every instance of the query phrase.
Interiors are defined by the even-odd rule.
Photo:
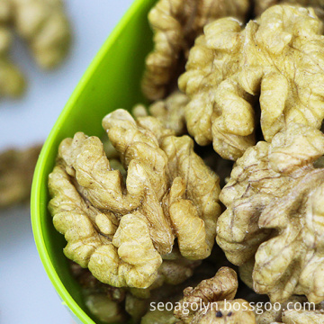
[[[55,71],[37,68],[22,44],[14,59],[29,79],[20,100],[0,102],[0,149],[43,142],[78,80],[132,0],[66,0],[74,41]],[[0,323],[73,323],[49,282],[31,232],[28,206],[0,211]]]

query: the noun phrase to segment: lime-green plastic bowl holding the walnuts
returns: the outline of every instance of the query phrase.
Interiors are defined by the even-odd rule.
[[[80,286],[63,254],[65,238],[48,211],[48,176],[62,139],[76,131],[101,136],[103,116],[117,108],[145,102],[140,92],[144,60],[152,48],[148,11],[156,0],[136,0],[104,42],[49,133],[38,160],[31,190],[31,223],[40,259],[62,303],[77,323],[100,323],[85,307]]]

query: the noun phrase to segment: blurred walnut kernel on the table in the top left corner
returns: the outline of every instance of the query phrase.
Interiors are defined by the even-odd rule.
[[[31,49],[39,67],[49,69],[67,56],[71,28],[61,0],[1,0],[0,2],[0,96],[23,94],[25,80],[10,55],[13,33]]]

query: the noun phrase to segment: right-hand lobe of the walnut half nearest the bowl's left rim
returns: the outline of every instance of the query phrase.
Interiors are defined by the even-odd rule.
[[[219,177],[193,154],[193,140],[188,136],[167,137],[161,147],[169,159],[170,176],[175,179],[165,204],[181,254],[192,259],[208,257],[215,238],[215,214],[220,214],[215,200],[220,193]]]

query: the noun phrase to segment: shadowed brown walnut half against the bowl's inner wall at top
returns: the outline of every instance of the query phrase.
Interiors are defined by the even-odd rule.
[[[248,0],[159,0],[148,14],[154,49],[146,59],[142,90],[148,99],[173,91],[188,51],[205,24],[225,16],[245,20]]]

